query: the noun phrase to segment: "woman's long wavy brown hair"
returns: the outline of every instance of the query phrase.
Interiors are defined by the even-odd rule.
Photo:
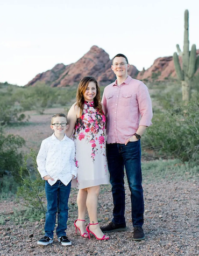
[[[100,102],[100,87],[98,86],[97,81],[94,77],[84,77],[80,81],[80,84],[77,88],[77,93],[76,93],[76,101],[77,101],[76,105],[77,105],[77,107],[80,107],[81,115],[82,115],[83,107],[84,107],[83,94],[86,91],[89,82],[94,82],[96,84],[97,93],[94,98],[94,107],[97,108],[101,114],[103,114],[102,104]]]

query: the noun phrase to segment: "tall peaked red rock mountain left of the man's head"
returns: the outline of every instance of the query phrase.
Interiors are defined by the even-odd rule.
[[[37,82],[45,82],[51,87],[65,87],[78,84],[86,75],[95,77],[100,85],[108,85],[114,81],[115,74],[111,70],[109,54],[103,49],[93,46],[76,63],[65,66],[58,64],[52,70],[38,74],[26,86],[34,86]],[[129,74],[136,77],[138,70],[130,65]]]

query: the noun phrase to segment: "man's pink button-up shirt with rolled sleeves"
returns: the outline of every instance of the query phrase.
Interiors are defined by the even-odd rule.
[[[124,144],[139,126],[150,126],[152,103],[146,85],[129,75],[120,85],[117,80],[104,88],[107,143]]]

